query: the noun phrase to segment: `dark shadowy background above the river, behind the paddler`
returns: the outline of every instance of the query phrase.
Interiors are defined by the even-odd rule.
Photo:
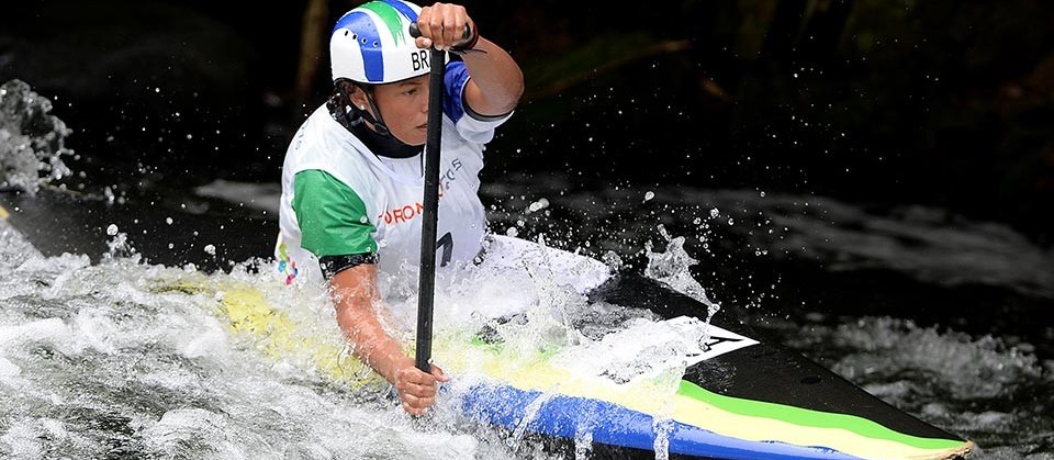
[[[330,24],[357,2],[318,4],[305,22],[306,1],[20,1],[0,18],[0,81],[53,99],[92,184],[276,182],[328,92]],[[466,5],[527,81],[484,183],[933,205],[1051,243],[1051,2]],[[322,41],[314,76],[304,36]]]

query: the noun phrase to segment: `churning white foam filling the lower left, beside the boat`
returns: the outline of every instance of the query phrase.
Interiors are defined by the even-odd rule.
[[[0,259],[15,256],[11,247]],[[121,257],[91,266],[77,256],[34,256],[12,268],[0,287],[0,455],[512,455],[496,447],[504,446],[497,434],[421,430],[385,394],[328,382],[295,356],[268,359],[260,344],[221,323],[211,293],[156,289],[177,280],[248,281],[273,292],[309,329],[339,337],[324,299],[283,290],[272,278],[249,265],[210,278]]]

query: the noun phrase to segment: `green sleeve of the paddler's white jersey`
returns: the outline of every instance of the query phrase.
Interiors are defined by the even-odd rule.
[[[302,235],[301,247],[319,260],[377,254],[377,228],[355,190],[317,169],[298,172],[293,190],[292,207]]]

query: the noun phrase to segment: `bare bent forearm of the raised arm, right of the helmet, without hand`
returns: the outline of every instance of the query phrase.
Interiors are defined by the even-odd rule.
[[[519,65],[505,49],[486,38],[480,37],[475,49],[485,53],[464,55],[464,66],[479,90],[478,94],[469,94],[472,109],[483,115],[511,112],[524,93],[524,74]]]

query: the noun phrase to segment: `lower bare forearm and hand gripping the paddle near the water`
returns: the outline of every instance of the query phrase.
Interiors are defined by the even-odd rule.
[[[430,374],[414,367],[399,340],[384,330],[375,307],[381,302],[377,267],[363,263],[341,270],[329,279],[329,287],[337,324],[351,344],[352,354],[395,385],[406,412],[423,414],[436,402],[436,382],[448,379],[436,366]]]

